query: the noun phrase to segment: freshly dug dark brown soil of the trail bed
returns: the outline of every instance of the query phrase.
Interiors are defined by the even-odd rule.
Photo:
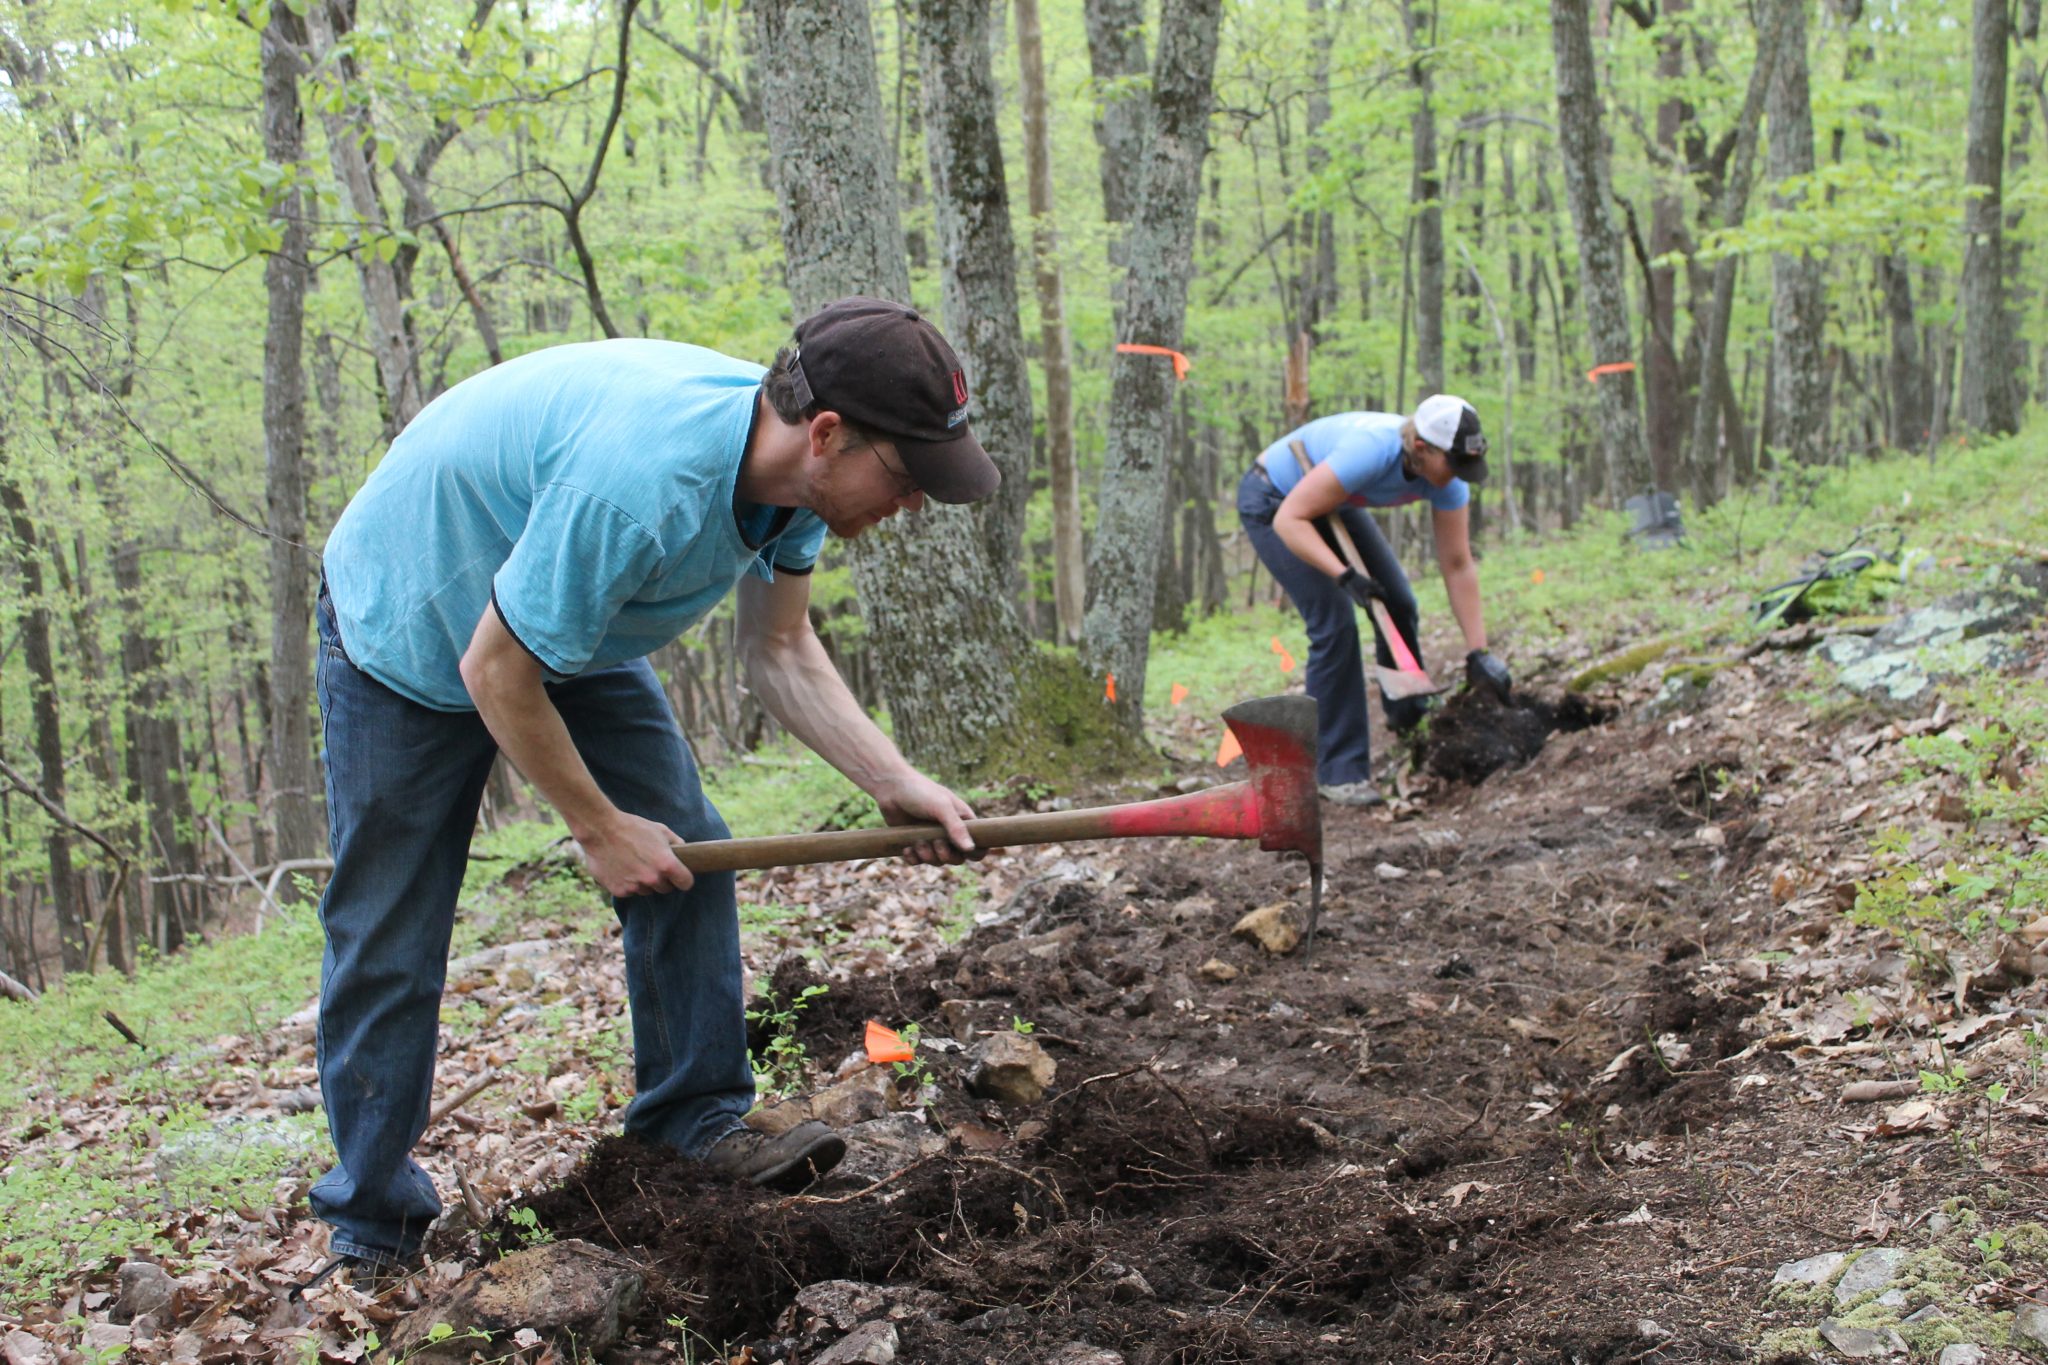
[[[774,1197],[608,1140],[532,1207],[647,1267],[643,1340],[686,1318],[752,1361],[829,1340],[791,1312],[827,1279],[903,1293],[920,1363],[1755,1359],[1819,1318],[1765,1293],[1778,1263],[1974,1191],[2001,1146],[1870,1144],[1757,1046],[1786,993],[1737,962],[1810,941],[1802,915],[1839,921],[1847,884],[1815,835],[1839,790],[1763,794],[1872,724],[1808,722],[1774,686],[1745,671],[1679,718],[1450,706],[1409,798],[1325,806],[1313,960],[1231,933],[1307,911],[1298,860],[1096,845],[1118,872],[1090,880],[1079,849],[1044,853],[1067,862],[999,923],[799,1017],[825,1064],[868,1017],[915,1021],[930,1083],[897,1103],[942,1154]],[[1786,905],[1794,864],[1819,898]],[[784,962],[772,988],[813,980]],[[1012,1021],[1059,1064],[1034,1105],[963,1085]],[[2040,1209],[2034,1160],[2005,1166],[2007,1205]]]

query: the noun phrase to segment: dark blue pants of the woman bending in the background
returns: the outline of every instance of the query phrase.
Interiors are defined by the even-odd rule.
[[[1274,508],[1280,499],[1282,493],[1257,467],[1237,485],[1237,520],[1251,538],[1251,548],[1309,626],[1309,696],[1315,698],[1317,729],[1315,780],[1323,786],[1370,782],[1372,739],[1366,718],[1366,671],[1358,659],[1358,604],[1337,587],[1335,579],[1311,569],[1274,534]],[[1386,614],[1421,663],[1421,645],[1415,641],[1421,612],[1415,608],[1407,575],[1401,573],[1401,561],[1362,508],[1337,508],[1337,518],[1358,544],[1366,573],[1386,593]],[[1337,557],[1343,559],[1343,553]],[[1378,624],[1372,626],[1372,657],[1393,667],[1395,657],[1380,639]],[[1395,731],[1413,726],[1427,706],[1425,698],[1401,702],[1380,698],[1386,724]]]

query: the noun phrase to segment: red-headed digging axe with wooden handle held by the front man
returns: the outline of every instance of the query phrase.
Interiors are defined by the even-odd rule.
[[[1245,765],[1251,769],[1245,782],[1120,806],[967,821],[967,833],[973,835],[977,847],[985,849],[1067,843],[1071,839],[1206,835],[1210,839],[1257,839],[1262,849],[1300,853],[1309,860],[1311,874],[1309,933],[1303,952],[1309,956],[1315,950],[1315,921],[1323,909],[1323,810],[1315,792],[1315,700],[1262,696],[1231,706],[1223,712],[1223,722],[1231,726],[1245,751]],[[946,831],[938,825],[889,825],[817,835],[707,839],[676,845],[676,857],[696,874],[795,868],[852,857],[887,857],[913,843],[944,837]]]

